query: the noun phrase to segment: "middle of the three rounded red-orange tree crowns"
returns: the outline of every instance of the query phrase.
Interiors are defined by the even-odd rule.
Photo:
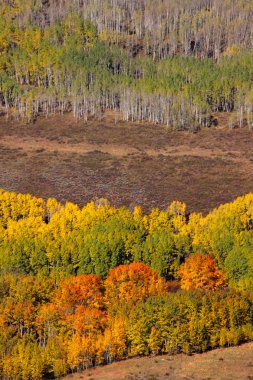
[[[149,296],[165,294],[167,282],[145,264],[132,263],[111,269],[105,289],[108,304],[137,302]]]

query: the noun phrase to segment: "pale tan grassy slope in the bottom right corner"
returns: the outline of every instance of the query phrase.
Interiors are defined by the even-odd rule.
[[[134,358],[88,369],[66,380],[252,380],[253,343],[192,356]]]

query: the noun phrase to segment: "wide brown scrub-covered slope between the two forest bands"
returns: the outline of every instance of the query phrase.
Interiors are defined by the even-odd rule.
[[[225,120],[225,121],[224,121]],[[223,116],[222,123],[226,124]],[[208,212],[253,191],[253,131],[218,127],[168,132],[158,125],[76,122],[70,115],[34,124],[0,117],[0,187],[84,205],[165,208],[172,200]]]

